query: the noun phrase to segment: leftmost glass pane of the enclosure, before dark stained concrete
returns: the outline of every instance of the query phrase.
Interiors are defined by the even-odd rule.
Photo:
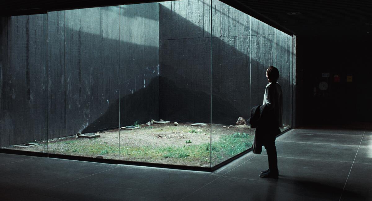
[[[47,152],[46,14],[1,17],[0,147]]]

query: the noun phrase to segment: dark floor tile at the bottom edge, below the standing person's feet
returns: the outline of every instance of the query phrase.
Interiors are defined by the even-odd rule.
[[[221,177],[199,189],[182,201],[314,201],[337,200],[342,188],[292,178],[262,179],[260,181]]]

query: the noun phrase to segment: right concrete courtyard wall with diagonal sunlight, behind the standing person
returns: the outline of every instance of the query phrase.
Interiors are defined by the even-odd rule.
[[[221,124],[247,119],[250,108],[262,104],[265,72],[274,65],[283,123],[291,124],[292,36],[218,0],[211,9],[210,2],[160,3],[160,117]]]

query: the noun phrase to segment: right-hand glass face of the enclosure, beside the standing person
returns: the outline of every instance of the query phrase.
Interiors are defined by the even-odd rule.
[[[212,1],[214,2],[214,1]],[[250,109],[263,103],[266,69],[276,66],[282,77],[283,127],[292,118],[292,37],[220,1],[215,1],[212,26],[212,166],[245,150],[255,129],[245,123]]]

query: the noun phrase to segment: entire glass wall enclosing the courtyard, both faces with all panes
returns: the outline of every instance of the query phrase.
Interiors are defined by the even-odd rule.
[[[270,65],[291,126],[292,36],[221,1],[0,22],[0,147],[210,168],[251,147]]]

